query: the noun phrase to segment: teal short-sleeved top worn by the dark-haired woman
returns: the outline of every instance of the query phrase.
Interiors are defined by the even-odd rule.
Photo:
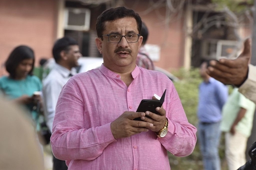
[[[0,89],[4,96],[12,100],[22,95],[32,96],[35,91],[41,91],[42,83],[37,76],[28,75],[23,80],[14,80],[8,76],[2,76],[0,78]],[[28,109],[32,119],[38,123],[39,114],[32,109],[32,104],[26,105],[25,108]]]

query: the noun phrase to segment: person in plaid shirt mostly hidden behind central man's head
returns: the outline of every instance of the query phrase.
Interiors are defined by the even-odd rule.
[[[140,46],[140,50],[138,52],[138,56],[136,59],[136,64],[139,67],[146,68],[148,70],[154,70],[154,64],[153,61],[150,59],[148,52],[146,51],[146,48],[144,45],[146,44],[146,41],[148,40],[148,27],[144,22],[142,22],[141,26],[141,33],[140,35],[143,37],[142,44]]]

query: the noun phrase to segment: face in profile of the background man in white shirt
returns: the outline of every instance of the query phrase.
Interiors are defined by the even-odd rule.
[[[65,59],[70,68],[78,66],[78,59],[81,57],[78,45],[70,45],[68,52],[65,52]]]

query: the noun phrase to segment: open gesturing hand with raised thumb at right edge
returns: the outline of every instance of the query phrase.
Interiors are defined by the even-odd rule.
[[[234,84],[239,87],[247,79],[248,63],[251,57],[250,39],[244,41],[244,50],[237,59],[210,61],[207,74],[224,84]]]

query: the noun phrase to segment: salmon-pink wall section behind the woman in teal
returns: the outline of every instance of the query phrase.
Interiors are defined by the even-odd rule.
[[[52,57],[56,37],[55,0],[0,0],[0,64],[18,45],[34,49],[36,65],[41,57]]]

